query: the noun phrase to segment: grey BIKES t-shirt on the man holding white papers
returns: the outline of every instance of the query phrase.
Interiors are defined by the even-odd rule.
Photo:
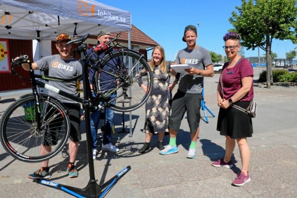
[[[204,69],[212,64],[210,54],[207,49],[198,46],[195,49],[181,49],[176,56],[177,64],[188,64],[190,67]],[[178,90],[190,94],[201,94],[203,76],[190,75],[186,71],[180,73]]]

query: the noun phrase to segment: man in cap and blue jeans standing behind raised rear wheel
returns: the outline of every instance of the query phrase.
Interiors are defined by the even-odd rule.
[[[88,49],[87,55],[92,55],[92,58],[96,60],[98,57],[102,58],[104,55],[104,51],[107,49],[107,43],[111,40],[110,32],[107,30],[102,30],[98,34],[98,45],[94,46],[91,49]],[[111,49],[113,50],[113,49]],[[96,53],[94,53],[96,52]],[[96,66],[96,65],[95,65]],[[103,70],[112,72],[115,74],[116,72],[116,63],[114,61],[109,61],[107,64],[104,65]],[[91,84],[91,89],[93,90],[93,75],[94,75],[94,68],[90,67],[89,68],[89,81]],[[102,88],[102,91],[104,90],[110,90],[115,87],[111,85],[110,82],[116,82],[115,78],[105,74],[104,72],[101,72],[100,74],[100,87]],[[93,94],[94,95],[94,94]],[[108,97],[108,100],[116,98],[116,93],[110,95]],[[113,104],[115,104],[116,100],[113,100]],[[107,150],[111,152],[117,152],[119,151],[118,148],[116,148],[114,145],[111,144],[111,130],[113,126],[113,117],[114,117],[114,111],[108,107],[104,107],[105,109],[105,120],[104,120],[104,131],[102,131],[102,150]],[[101,114],[101,109],[98,111],[91,113],[91,134],[93,137],[93,159],[96,159],[98,151],[97,151],[97,146],[98,146],[98,141],[97,141],[97,131],[98,131],[98,124],[100,122],[100,114]]]

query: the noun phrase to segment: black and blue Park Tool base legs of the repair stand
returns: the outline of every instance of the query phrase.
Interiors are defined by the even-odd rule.
[[[131,170],[131,166],[127,166],[102,185],[97,184],[95,180],[90,180],[88,185],[83,189],[66,186],[63,184],[43,179],[36,179],[33,181],[51,188],[55,188],[57,190],[64,191],[65,193],[68,193],[69,195],[72,195],[76,198],[102,198],[109,192],[109,190],[116,184],[116,182],[122,176],[124,176],[129,170]],[[94,187],[96,190],[94,189]]]

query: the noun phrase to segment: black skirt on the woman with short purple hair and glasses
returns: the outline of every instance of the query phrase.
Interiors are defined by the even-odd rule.
[[[234,104],[247,109],[249,101],[239,101]],[[232,139],[251,137],[253,133],[249,115],[232,106],[227,109],[220,108],[217,130],[220,131],[220,135]]]

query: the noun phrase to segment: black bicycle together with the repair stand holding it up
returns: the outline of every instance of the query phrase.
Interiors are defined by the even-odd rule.
[[[103,106],[108,106],[115,111],[128,112],[139,108],[146,102],[150,94],[152,75],[150,67],[148,66],[148,63],[143,55],[130,49],[112,50],[114,47],[120,46],[117,42],[114,43],[119,37],[119,34],[115,39],[110,41],[113,42],[113,46],[108,46],[110,42],[105,44],[105,46],[108,46],[108,49],[104,52],[106,55],[104,55],[103,58],[97,58],[96,60],[91,59],[90,57],[92,54],[87,56],[87,45],[83,44],[83,42],[89,36],[90,34],[67,43],[78,44],[78,47],[74,50],[74,52],[78,52],[80,54],[80,61],[83,68],[83,99],[58,90],[57,88],[41,82],[40,80],[36,80],[36,78],[38,78],[49,81],[71,82],[78,80],[81,76],[77,76],[72,79],[61,79],[34,74],[32,63],[27,55],[20,56],[19,59],[12,61],[11,67],[12,71],[14,72],[14,66],[20,65],[22,63],[29,63],[30,80],[32,82],[33,94],[25,95],[21,99],[18,99],[4,112],[0,121],[0,141],[3,148],[11,156],[18,160],[25,162],[45,161],[55,156],[66,144],[70,133],[70,121],[64,105],[49,95],[40,94],[38,92],[38,88],[46,88],[66,98],[82,103],[85,110],[85,127],[90,173],[90,181],[88,185],[83,189],[79,189],[43,179],[37,179],[36,182],[51,188],[62,190],[78,198],[101,198],[108,193],[110,188],[115,185],[117,180],[119,180],[127,171],[129,171],[131,167],[127,166],[106,183],[102,185],[97,184],[94,173],[94,161],[92,157],[90,109],[92,109],[92,111],[96,111]],[[93,66],[96,70],[93,75],[93,88],[95,88],[94,92],[96,95],[95,98],[92,97],[91,87],[88,80],[89,65],[86,65],[87,59],[91,61],[92,65],[96,65]],[[116,71],[110,71],[108,64],[111,62],[116,63]],[[138,84],[135,83],[135,74],[138,73],[140,67],[147,70],[146,75],[148,90],[145,93],[141,88],[139,88]],[[116,85],[113,89],[103,91],[103,88],[100,87],[100,74],[102,72],[115,77],[116,82],[110,82]],[[17,73],[15,74],[18,75]],[[118,101],[117,103],[122,103],[123,101],[129,100],[129,102],[125,102],[126,106],[117,105],[117,103],[110,104],[109,102],[111,101],[108,101],[107,98],[113,93],[117,93],[117,97],[115,98]],[[31,110],[26,111],[25,109],[29,107]],[[32,109],[32,107],[34,108]],[[30,119],[28,119],[28,117]],[[59,126],[58,132],[50,131],[52,125]],[[42,155],[39,153],[40,145],[48,143],[46,140],[47,133],[53,133],[55,135],[57,144],[50,145],[52,147],[51,151],[45,155]]]

